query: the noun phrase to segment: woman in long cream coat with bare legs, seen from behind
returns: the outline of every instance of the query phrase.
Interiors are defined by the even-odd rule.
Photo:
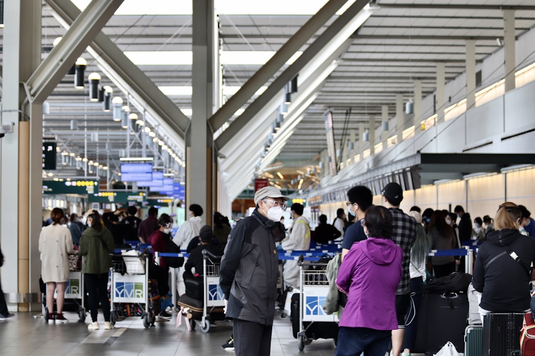
[[[52,224],[43,227],[39,235],[39,252],[41,252],[41,278],[47,284],[48,322],[66,323],[63,315],[65,301],[65,284],[68,281],[68,254],[72,254],[71,232],[62,226],[64,218],[62,209],[53,208],[50,212]],[[56,294],[57,313],[54,316],[54,291]]]

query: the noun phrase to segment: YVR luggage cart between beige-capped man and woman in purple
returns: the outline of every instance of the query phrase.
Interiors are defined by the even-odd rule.
[[[301,294],[299,298],[299,332],[297,333],[297,346],[299,351],[304,350],[312,340],[318,338],[333,338],[334,344],[338,338],[338,315],[325,314],[323,304],[329,290],[329,282],[325,275],[326,263],[307,262],[299,258],[301,267],[300,281]],[[316,268],[316,269],[314,269]]]

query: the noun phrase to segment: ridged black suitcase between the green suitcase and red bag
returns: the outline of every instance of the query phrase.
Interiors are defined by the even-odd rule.
[[[482,356],[520,356],[524,313],[488,313],[483,323]]]

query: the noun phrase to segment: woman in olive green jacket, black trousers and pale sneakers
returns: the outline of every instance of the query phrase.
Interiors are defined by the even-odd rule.
[[[98,211],[87,216],[87,230],[80,238],[80,256],[83,256],[82,273],[85,277],[91,323],[89,330],[98,330],[97,308],[100,301],[104,314],[104,329],[113,329],[110,322],[110,301],[108,299],[108,272],[113,253],[113,236],[102,225]]]

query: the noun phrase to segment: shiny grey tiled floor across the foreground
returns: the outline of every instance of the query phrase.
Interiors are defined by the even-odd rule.
[[[0,321],[1,355],[234,355],[221,350],[221,345],[232,333],[231,322],[218,322],[217,327],[204,334],[198,328],[186,330],[184,323],[175,327],[175,319],[156,322],[145,329],[140,318],[118,321],[116,329],[89,331],[87,323],[78,321],[78,315],[66,313],[68,324],[48,325],[32,313],[16,313],[8,321]],[[176,314],[173,315],[175,317]],[[99,315],[102,318],[102,314]],[[89,316],[86,321],[89,320]],[[99,319],[102,324],[104,320]],[[320,339],[297,349],[289,319],[276,317],[271,354],[279,355],[333,355],[333,339]]]

